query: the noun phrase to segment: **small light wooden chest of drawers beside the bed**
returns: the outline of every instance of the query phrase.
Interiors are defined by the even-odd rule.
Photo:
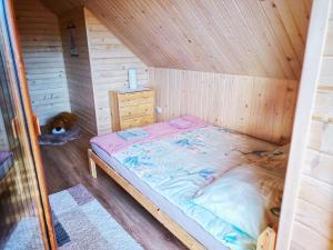
[[[154,123],[154,91],[110,91],[110,109],[112,131]]]

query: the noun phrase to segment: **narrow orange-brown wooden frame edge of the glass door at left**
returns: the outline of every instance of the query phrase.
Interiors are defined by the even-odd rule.
[[[38,132],[36,131],[33,121],[33,112],[13,9],[13,0],[0,1],[0,8],[2,8],[1,21],[3,22],[2,34],[4,40],[6,63],[9,71],[8,73],[10,81],[12,82],[10,87],[12,89],[18,118],[19,120],[26,122],[26,124],[20,127],[20,137],[22,137],[22,144],[29,163],[32,167],[34,166],[33,173],[36,178],[33,179],[36,179],[36,181],[33,181],[34,183],[32,184],[38,192],[34,194],[34,197],[43,243],[47,250],[57,250],[58,247],[49,203],[48,187],[38,141]]]

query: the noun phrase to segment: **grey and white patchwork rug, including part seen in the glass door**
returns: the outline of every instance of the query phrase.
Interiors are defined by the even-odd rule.
[[[51,194],[50,204],[60,250],[142,250],[81,184]],[[4,249],[43,249],[37,229],[36,217],[21,220]]]

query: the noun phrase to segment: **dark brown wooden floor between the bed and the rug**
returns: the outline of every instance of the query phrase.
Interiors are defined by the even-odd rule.
[[[84,132],[64,146],[41,147],[50,194],[81,183],[144,249],[186,249],[99,168],[97,179],[90,176],[87,157],[90,137]]]

